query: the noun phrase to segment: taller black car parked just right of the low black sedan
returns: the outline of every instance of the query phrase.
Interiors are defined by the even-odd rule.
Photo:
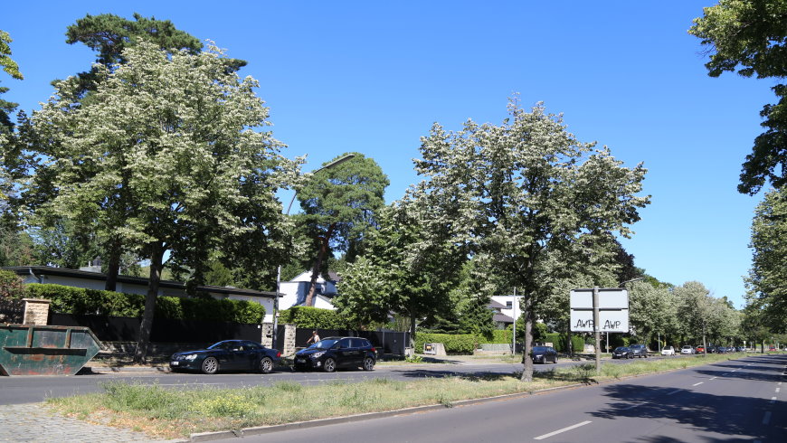
[[[338,368],[375,369],[377,351],[361,337],[327,337],[295,353],[293,369],[322,369],[334,372]]]

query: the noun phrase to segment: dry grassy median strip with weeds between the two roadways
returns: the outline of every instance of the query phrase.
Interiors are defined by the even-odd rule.
[[[456,401],[532,392],[574,383],[594,383],[624,376],[683,369],[735,360],[741,354],[709,354],[629,364],[604,363],[595,374],[593,363],[536,372],[533,382],[520,382],[518,373],[491,377],[461,376],[399,382],[385,378],[366,382],[328,382],[301,386],[280,382],[270,387],[183,389],[106,382],[104,392],[55,398],[47,403],[68,416],[159,438],[184,438],[196,432],[277,425],[309,419],[398,410]]]

